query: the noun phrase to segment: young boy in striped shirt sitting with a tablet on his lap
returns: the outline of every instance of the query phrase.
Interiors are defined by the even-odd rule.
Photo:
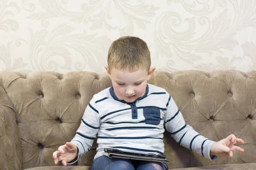
[[[90,150],[98,133],[91,170],[168,170],[165,163],[102,156],[105,147],[163,154],[164,125],[176,142],[212,161],[218,156],[232,157],[232,150],[244,152],[234,145],[244,141],[234,135],[213,142],[186,125],[168,92],[147,84],[155,70],[150,66],[148,46],[140,38],[120,37],[111,44],[105,69],[113,86],[93,96],[76,136],[53,153],[55,164],[76,162]]]

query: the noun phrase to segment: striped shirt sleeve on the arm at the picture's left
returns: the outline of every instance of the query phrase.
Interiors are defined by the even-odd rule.
[[[99,131],[100,117],[98,108],[96,107],[95,99],[91,99],[87,105],[84,115],[81,119],[81,124],[76,130],[76,135],[71,140],[72,143],[76,144],[78,148],[78,155],[76,159],[68,162],[67,164],[73,164],[78,159],[87,153],[92,147],[93,141]]]

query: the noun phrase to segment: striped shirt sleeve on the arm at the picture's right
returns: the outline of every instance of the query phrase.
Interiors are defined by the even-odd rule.
[[[168,94],[168,93],[167,93]],[[194,151],[209,160],[214,161],[217,156],[210,156],[210,149],[214,141],[201,136],[190,125],[187,125],[175,101],[169,95],[166,103],[164,122],[166,130],[181,146]]]

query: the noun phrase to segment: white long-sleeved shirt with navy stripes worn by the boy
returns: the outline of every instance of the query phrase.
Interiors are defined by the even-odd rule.
[[[186,124],[175,101],[164,88],[150,84],[147,84],[144,96],[132,103],[119,100],[113,87],[95,94],[71,142],[79,148],[78,159],[90,150],[97,134],[98,147],[94,159],[102,156],[105,147],[163,154],[164,126],[181,146],[212,161],[216,159],[209,154],[214,141]]]

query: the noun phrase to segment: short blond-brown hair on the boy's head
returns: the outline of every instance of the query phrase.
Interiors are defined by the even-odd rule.
[[[109,48],[109,70],[116,68],[118,70],[137,71],[141,68],[149,71],[150,65],[151,58],[148,45],[138,37],[120,37]]]

